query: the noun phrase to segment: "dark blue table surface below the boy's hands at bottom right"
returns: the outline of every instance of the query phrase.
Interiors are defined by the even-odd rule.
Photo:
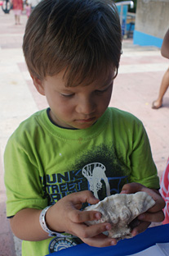
[[[68,249],[62,249],[58,252],[47,254],[46,256],[126,256],[136,254],[141,250],[147,249],[156,243],[169,242],[169,224],[149,227],[145,232],[136,235],[131,239],[118,241],[118,245],[97,248],[86,244],[76,245]]]

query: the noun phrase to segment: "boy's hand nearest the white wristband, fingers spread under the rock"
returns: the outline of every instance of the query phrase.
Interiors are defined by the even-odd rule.
[[[95,204],[99,202],[90,191],[73,193],[60,199],[47,211],[47,226],[58,232],[66,232],[78,236],[84,243],[96,247],[116,245],[117,240],[102,234],[111,229],[110,223],[100,223],[87,226],[84,222],[98,220],[99,212],[80,211],[82,203]]]

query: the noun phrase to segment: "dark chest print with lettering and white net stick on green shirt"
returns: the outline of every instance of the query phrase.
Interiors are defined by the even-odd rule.
[[[67,194],[82,190],[91,190],[96,198],[105,199],[121,191],[129,174],[130,170],[117,158],[113,146],[100,144],[96,149],[77,154],[74,163],[65,171],[55,170],[41,176],[40,180],[45,196],[53,204]]]

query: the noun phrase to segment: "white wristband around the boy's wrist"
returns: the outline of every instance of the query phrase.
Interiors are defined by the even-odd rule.
[[[74,235],[62,235],[58,232],[55,232],[55,231],[51,231],[48,227],[47,227],[47,223],[45,221],[45,215],[47,213],[47,210],[51,207],[50,206],[47,206],[46,208],[44,208],[42,210],[42,212],[40,213],[40,216],[39,216],[39,222],[40,222],[40,225],[42,226],[42,229],[43,231],[46,231],[48,233],[49,236],[57,236],[57,237],[69,237],[69,238],[72,238],[72,237],[75,237]]]

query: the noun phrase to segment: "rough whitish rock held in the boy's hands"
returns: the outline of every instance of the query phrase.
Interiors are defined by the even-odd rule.
[[[153,207],[155,201],[146,192],[136,194],[113,194],[99,203],[92,204],[84,211],[98,211],[102,217],[98,221],[86,222],[88,226],[97,223],[109,222],[112,229],[108,231],[109,237],[121,240],[131,237],[129,224],[141,213]]]

